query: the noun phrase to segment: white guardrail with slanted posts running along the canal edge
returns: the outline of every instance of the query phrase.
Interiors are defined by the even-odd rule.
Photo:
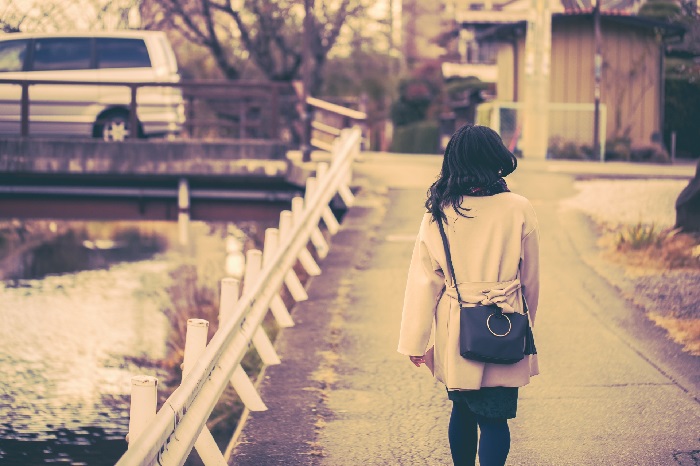
[[[321,258],[328,253],[319,224],[323,219],[328,231],[336,233],[339,225],[330,201],[337,194],[348,207],[353,203],[348,183],[360,139],[359,128],[343,130],[333,144],[330,166],[319,163],[316,177],[307,180],[304,198],[293,199],[292,210],[280,214],[279,229],[265,231],[263,252],[248,251],[243,295],[238,297],[237,279],[221,281],[219,329],[209,344],[209,323],[188,321],[182,384],[157,413],[157,380],[150,376],[132,378],[129,449],[118,466],[182,465],[193,447],[206,466],[226,465],[206,427],[207,419],[229,383],[247,409],[267,409],[241,360],[252,343],[264,364],[279,364],[261,323],[271,310],[281,327],[294,325],[279,290],[285,283],[295,300],[307,298],[293,270],[297,261],[310,275],[321,273],[307,245],[311,242]]]

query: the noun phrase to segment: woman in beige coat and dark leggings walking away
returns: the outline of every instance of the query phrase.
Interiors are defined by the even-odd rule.
[[[536,354],[492,363],[467,359],[460,351],[461,307],[466,312],[495,305],[489,309],[497,309],[497,319],[511,316],[508,325],[516,317],[524,321],[508,314],[513,312],[527,312],[530,324],[535,320],[539,233],[532,205],[511,193],[503,179],[516,167],[496,132],[460,128],[428,191],[408,272],[398,351],[418,367],[427,364],[446,385],[453,402],[448,437],[457,466],[476,461],[477,426],[481,466],[505,464],[507,420],[515,417],[518,387],[539,372]]]

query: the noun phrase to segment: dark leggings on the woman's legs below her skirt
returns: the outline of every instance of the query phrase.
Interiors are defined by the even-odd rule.
[[[479,425],[479,463],[481,466],[503,466],[510,451],[510,430],[507,419],[479,416],[462,402],[452,403],[450,416],[450,450],[455,466],[474,466]]]

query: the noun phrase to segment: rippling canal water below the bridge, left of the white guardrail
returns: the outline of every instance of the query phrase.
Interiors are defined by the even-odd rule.
[[[181,263],[165,252],[0,281],[1,465],[118,460],[127,448],[131,377],[169,376],[159,364],[171,326],[165,290]]]

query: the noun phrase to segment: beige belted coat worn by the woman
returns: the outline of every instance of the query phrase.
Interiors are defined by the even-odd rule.
[[[445,233],[462,299],[476,304],[493,298],[504,312],[522,313],[524,293],[534,327],[539,232],[532,205],[522,196],[505,192],[465,197],[462,206],[471,209],[467,215],[473,218],[445,209]],[[435,377],[450,390],[521,387],[539,373],[537,355],[510,365],[485,364],[460,356],[459,308],[440,230],[431,215],[425,214],[408,272],[399,353],[423,355],[434,340],[434,355],[428,352],[428,356],[434,357]]]

